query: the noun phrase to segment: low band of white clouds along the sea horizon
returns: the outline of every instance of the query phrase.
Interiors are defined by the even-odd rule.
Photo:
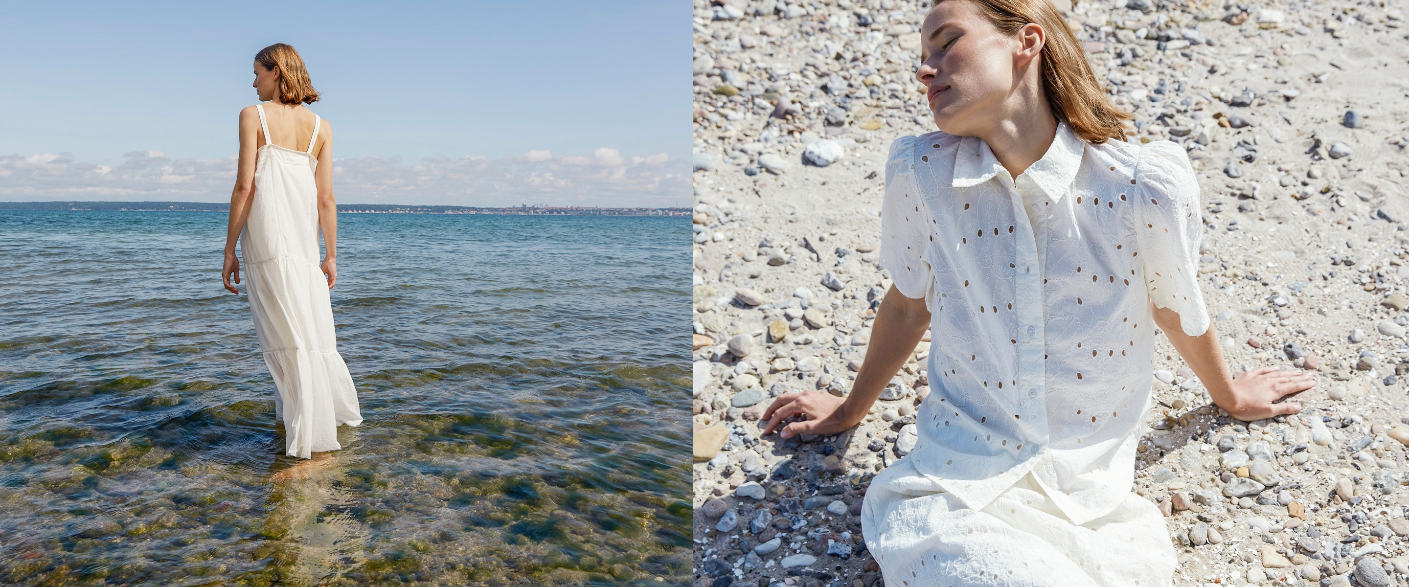
[[[235,158],[173,159],[134,151],[108,168],[69,155],[0,155],[0,200],[185,200],[224,201],[235,180]],[[334,159],[341,203],[451,206],[676,206],[690,194],[689,163],[666,153],[623,158],[599,148],[590,156],[528,151],[483,156]],[[688,201],[688,200],[686,200]]]

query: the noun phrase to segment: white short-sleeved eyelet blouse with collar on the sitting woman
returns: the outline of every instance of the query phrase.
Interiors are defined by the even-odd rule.
[[[1019,213],[1023,191],[1037,210]],[[1033,225],[1031,220],[1036,220]],[[1065,122],[1016,182],[974,137],[890,145],[882,265],[931,313],[912,490],[981,510],[1029,472],[1075,524],[1130,491],[1155,325],[1209,315],[1199,186],[1184,149],[1079,139]]]

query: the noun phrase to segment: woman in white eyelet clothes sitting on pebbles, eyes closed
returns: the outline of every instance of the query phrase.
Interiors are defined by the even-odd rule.
[[[769,434],[855,427],[926,329],[919,442],[861,525],[886,586],[1168,586],[1175,553],[1131,493],[1155,328],[1239,419],[1295,414],[1303,374],[1231,379],[1198,284],[1199,186],[1179,145],[1124,141],[1048,0],[938,0],[916,77],[938,132],[890,145],[895,284],[851,394],[782,396]]]

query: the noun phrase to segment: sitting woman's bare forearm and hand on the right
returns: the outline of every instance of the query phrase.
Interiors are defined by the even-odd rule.
[[[1181,328],[1178,313],[1154,304],[1151,304],[1151,310],[1154,311],[1154,324],[1164,331],[1174,349],[1199,377],[1199,383],[1203,383],[1203,387],[1209,390],[1213,403],[1230,415],[1243,421],[1254,421],[1302,411],[1299,404],[1274,401],[1312,389],[1316,381],[1309,374],[1284,373],[1277,367],[1258,367],[1233,379],[1223,360],[1223,349],[1219,348],[1219,335],[1213,325],[1209,325],[1208,332],[1199,336],[1189,336]]]

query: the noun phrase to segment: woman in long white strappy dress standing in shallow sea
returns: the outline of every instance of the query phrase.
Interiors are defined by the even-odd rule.
[[[240,113],[240,163],[230,197],[225,289],[245,291],[265,365],[273,374],[275,417],[285,452],[302,459],[337,450],[337,427],[362,424],[356,390],[337,351],[328,290],[338,279],[333,128],[303,104],[318,100],[303,59],[285,44],[255,56],[263,104]],[[318,262],[318,229],[327,249]],[[235,258],[235,241],[241,258]]]

